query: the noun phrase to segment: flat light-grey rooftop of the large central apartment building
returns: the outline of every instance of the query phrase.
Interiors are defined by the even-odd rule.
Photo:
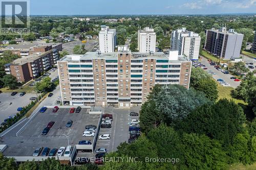
[[[168,60],[169,57],[166,56],[163,52],[155,52],[153,54],[149,53],[139,53],[139,52],[132,52],[132,59],[162,59]],[[78,62],[82,59],[108,59],[108,60],[116,60],[118,53],[101,53],[98,52],[87,52],[84,55],[67,55],[61,58],[59,61],[69,61],[69,62]],[[171,60],[172,61],[172,60]],[[184,56],[178,56],[178,60],[173,61],[188,61],[188,59]]]

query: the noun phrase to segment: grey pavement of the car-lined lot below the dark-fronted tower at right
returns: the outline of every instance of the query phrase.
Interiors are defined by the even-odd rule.
[[[236,88],[237,86],[239,86],[240,82],[235,82],[232,79],[230,79],[230,77],[233,77],[232,75],[223,74],[221,71],[215,69],[214,65],[210,65],[206,58],[204,58],[202,56],[200,56],[200,57],[202,58],[202,61],[200,61],[200,62],[208,68],[205,71],[212,70],[212,72],[214,72],[216,74],[216,75],[212,76],[215,80],[223,79],[225,82],[230,84],[230,87],[233,87],[233,88]]]

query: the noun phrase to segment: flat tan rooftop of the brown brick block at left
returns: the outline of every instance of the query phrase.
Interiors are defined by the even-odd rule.
[[[44,53],[34,53],[34,54],[31,54],[31,55],[23,57],[23,58],[18,58],[16,60],[14,60],[13,62],[11,62],[10,64],[11,65],[23,65],[23,64],[28,63],[28,62],[33,62],[34,60],[36,60],[38,58],[41,58],[45,55],[48,55],[51,52],[52,51],[47,51],[47,52],[44,52]]]

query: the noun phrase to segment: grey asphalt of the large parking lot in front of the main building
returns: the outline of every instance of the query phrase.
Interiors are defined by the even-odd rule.
[[[93,142],[93,137],[83,137],[83,131],[86,125],[98,124],[100,115],[89,114],[89,109],[82,108],[80,113],[69,113],[70,108],[60,108],[56,113],[52,112],[52,108],[48,108],[45,113],[38,113],[28,127],[16,137],[16,132],[20,127],[14,128],[5,136],[0,138],[0,144],[7,144],[8,148],[4,151],[5,156],[32,156],[33,151],[37,147],[60,148],[67,147],[68,139],[65,135],[70,135],[70,145],[74,146],[80,140],[89,140]],[[113,114],[112,128],[100,128],[99,135],[110,134],[110,140],[99,140],[95,151],[98,148],[106,148],[108,152],[116,151],[118,145],[129,139],[129,125],[131,119],[138,119],[138,116],[130,116],[131,111],[139,111],[139,107],[130,110],[114,109],[113,107],[102,108],[104,114]],[[66,124],[69,120],[73,120],[71,128],[67,128]],[[41,135],[42,130],[51,121],[55,124],[47,135]],[[63,135],[65,134],[65,135]],[[78,151],[77,157],[92,157],[92,153]]]

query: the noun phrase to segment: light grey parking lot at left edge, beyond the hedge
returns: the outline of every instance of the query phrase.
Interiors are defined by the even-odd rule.
[[[5,92],[0,94],[0,123],[4,122],[4,119],[10,115],[16,115],[18,107],[27,106],[31,101],[31,97],[36,97],[34,93],[27,93],[24,96],[11,95],[11,92]],[[10,103],[12,103],[10,105]]]

